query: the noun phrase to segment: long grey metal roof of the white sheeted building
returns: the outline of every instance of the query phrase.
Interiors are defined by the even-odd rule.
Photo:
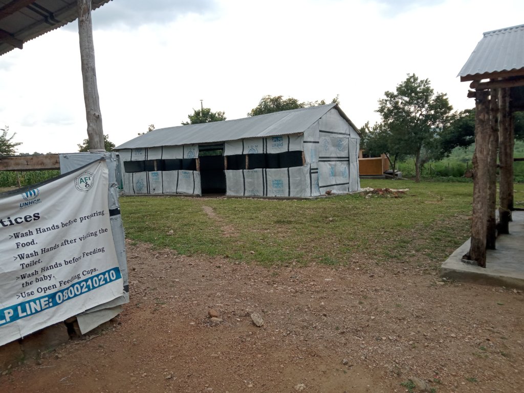
[[[333,107],[358,132],[358,129],[338,105],[328,104],[223,122],[159,128],[123,143],[117,146],[115,150],[203,144],[244,138],[300,134]]]

